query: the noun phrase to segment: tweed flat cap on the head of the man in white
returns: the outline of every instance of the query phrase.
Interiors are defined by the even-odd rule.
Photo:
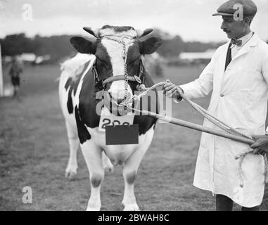
[[[236,11],[238,11],[237,6],[240,4],[243,6],[243,15],[244,16],[255,16],[257,13],[257,6],[251,0],[229,0],[226,1],[222,6],[219,6],[217,9],[217,13],[212,15],[234,15]]]

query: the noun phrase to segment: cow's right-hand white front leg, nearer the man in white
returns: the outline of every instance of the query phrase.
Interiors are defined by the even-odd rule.
[[[123,176],[125,181],[124,198],[122,200],[125,206],[124,211],[138,211],[139,206],[136,204],[136,197],[134,193],[134,181],[136,173],[141,164],[141,160],[148,150],[153,138],[153,128],[148,131],[146,138],[138,149],[127,159],[123,168]]]

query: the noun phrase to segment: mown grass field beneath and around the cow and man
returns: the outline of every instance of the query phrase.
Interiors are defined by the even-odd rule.
[[[202,68],[166,68],[165,79],[189,82]],[[25,67],[22,101],[0,99],[0,210],[85,210],[89,173],[79,151],[77,179],[65,179],[68,139],[58,103],[59,67]],[[4,80],[8,82],[7,68]],[[163,78],[164,79],[164,78]],[[162,79],[155,79],[155,82]],[[196,101],[208,106],[208,98]],[[202,124],[186,103],[173,105],[173,117]],[[158,124],[135,184],[141,210],[215,210],[215,198],[194,188],[193,174],[200,133],[172,124]],[[32,188],[32,204],[23,204],[23,187]],[[122,210],[122,168],[106,174],[101,210]],[[267,191],[261,210],[268,209]],[[238,205],[235,210],[239,210]]]

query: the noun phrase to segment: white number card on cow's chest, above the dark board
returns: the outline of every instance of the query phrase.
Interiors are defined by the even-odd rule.
[[[110,111],[103,107],[101,110],[101,119],[98,125],[98,131],[106,131],[106,126],[116,126],[116,125],[132,125],[134,121],[134,114],[128,113],[123,116],[112,115]]]

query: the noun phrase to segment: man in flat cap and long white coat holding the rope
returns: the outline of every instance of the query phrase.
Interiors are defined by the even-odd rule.
[[[242,8],[242,10],[241,10]],[[238,13],[239,12],[239,13]],[[268,98],[268,46],[250,30],[257,13],[251,0],[230,0],[213,15],[222,15],[221,29],[231,41],[215,52],[198,79],[189,84],[164,86],[167,96],[181,100],[178,89],[189,98],[210,94],[208,111],[245,134],[255,135],[243,160],[243,182],[239,186],[238,160],[234,156],[250,149],[245,143],[211,134],[202,134],[193,185],[216,194],[216,210],[232,210],[233,203],[242,210],[259,210],[264,195],[264,159],[257,153],[267,151],[265,118]],[[239,15],[240,14],[240,15]],[[208,120],[204,126],[217,129]]]

